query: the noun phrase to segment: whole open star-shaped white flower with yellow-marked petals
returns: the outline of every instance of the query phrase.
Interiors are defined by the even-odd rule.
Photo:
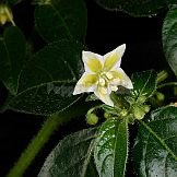
[[[110,99],[111,91],[116,92],[118,85],[133,88],[131,80],[120,68],[125,49],[126,45],[123,44],[105,56],[82,51],[85,72],[78,81],[73,95],[94,92],[106,105],[114,106]]]

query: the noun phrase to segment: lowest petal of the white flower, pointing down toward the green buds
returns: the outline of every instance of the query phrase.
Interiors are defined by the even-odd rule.
[[[107,93],[103,93],[102,88],[103,87],[98,86],[97,90],[95,90],[94,94],[106,105],[114,106],[114,103],[110,98],[110,94],[108,93],[108,91]]]

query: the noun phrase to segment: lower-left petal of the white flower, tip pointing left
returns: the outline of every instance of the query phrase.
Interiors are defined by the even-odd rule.
[[[97,75],[85,72],[78,81],[73,95],[81,94],[83,92],[94,92],[96,90]]]

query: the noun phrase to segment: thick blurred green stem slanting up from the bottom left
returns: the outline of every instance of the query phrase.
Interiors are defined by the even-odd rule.
[[[58,126],[68,122],[73,117],[85,114],[85,111],[86,107],[82,107],[79,113],[76,111],[75,107],[72,107],[71,109],[67,109],[62,113],[54,114],[52,116],[48,117],[42,129],[30,142],[26,150],[21,154],[19,161],[14,164],[7,177],[22,177],[24,172],[32,164],[35,156],[43,149]]]

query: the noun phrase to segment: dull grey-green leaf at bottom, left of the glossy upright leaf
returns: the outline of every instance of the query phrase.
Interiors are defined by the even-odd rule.
[[[48,155],[38,177],[87,176],[96,132],[97,128],[85,129],[61,140]]]

